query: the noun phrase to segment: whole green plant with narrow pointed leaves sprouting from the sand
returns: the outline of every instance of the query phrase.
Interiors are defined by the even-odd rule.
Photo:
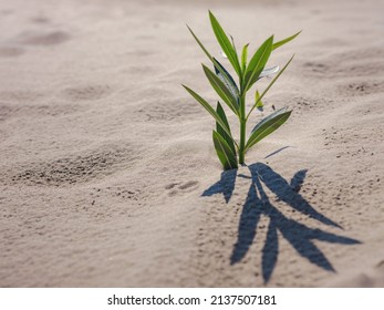
[[[220,99],[227,104],[227,106],[238,116],[240,124],[240,141],[239,143],[232,137],[230,126],[222,108],[220,102],[217,103],[216,110],[211,107],[211,105],[204,100],[196,92],[190,90],[189,87],[183,85],[216,120],[216,131],[212,133],[214,145],[216,148],[216,153],[222,164],[224,169],[232,169],[238,167],[239,164],[245,163],[245,155],[249,148],[255,146],[258,142],[260,142],[263,137],[268,136],[272,132],[274,132],[278,127],[280,127],[291,115],[291,111],[287,111],[287,107],[282,107],[268,117],[261,120],[250,133],[248,141],[246,142],[246,131],[247,131],[247,122],[249,120],[250,114],[255,110],[255,107],[262,106],[261,100],[269,91],[269,89],[273,85],[273,83],[279,79],[279,76],[284,72],[287,66],[292,61],[293,56],[287,62],[287,64],[281,69],[281,71],[274,76],[274,79],[269,83],[266,90],[259,94],[256,91],[255,103],[250,111],[246,112],[246,95],[247,92],[252,87],[252,85],[262,78],[262,72],[267,64],[267,61],[273,50],[280,48],[287,42],[293,40],[300,32],[289,37],[279,42],[273,42],[273,35],[268,38],[260,48],[255,52],[252,58],[248,62],[248,46],[246,44],[242,48],[241,56],[237,53],[233,39],[228,39],[227,34],[222,30],[221,25],[215,18],[215,16],[209,11],[209,19],[216,35],[218,43],[220,44],[224,53],[228,58],[230,64],[232,65],[236,74],[239,78],[239,86],[232,79],[232,76],[228,73],[228,71],[221,65],[221,63],[211,56],[211,54],[206,50],[200,40],[195,35],[191,29],[188,27],[190,33],[200,45],[205,54],[212,62],[215,73],[203,64],[203,70]]]

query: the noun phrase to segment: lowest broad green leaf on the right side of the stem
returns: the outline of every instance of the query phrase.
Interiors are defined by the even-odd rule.
[[[257,124],[246,144],[246,152],[259,141],[279,128],[289,118],[291,112],[292,111],[284,112],[284,107],[280,108]]]

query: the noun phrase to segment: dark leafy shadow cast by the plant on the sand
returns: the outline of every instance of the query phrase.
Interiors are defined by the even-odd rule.
[[[283,215],[266,194],[264,188],[269,188],[279,200],[284,202],[294,211],[304,214],[324,225],[342,227],[316,211],[300,194],[300,187],[304,182],[307,170],[299,170],[288,183],[281,175],[276,173],[271,167],[262,163],[256,163],[248,166],[251,176],[237,174],[236,169],[221,173],[220,180],[206,189],[201,196],[211,196],[222,194],[226,203],[229,203],[235,190],[237,177],[250,179],[250,187],[246,202],[242,207],[238,238],[233,246],[230,257],[230,264],[235,265],[246,256],[252,245],[258,223],[261,216],[269,218],[267,239],[262,248],[261,269],[264,283],[267,283],[274,270],[279,256],[278,231],[295,249],[295,251],[310,262],[320,268],[335,272],[332,264],[325,255],[314,245],[313,240],[321,240],[340,245],[356,245],[359,240],[326,232],[322,229],[310,228],[294,219]]]

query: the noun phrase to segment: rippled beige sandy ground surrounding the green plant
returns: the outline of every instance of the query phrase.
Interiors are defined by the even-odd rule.
[[[233,2],[0,1],[1,287],[384,287],[384,2]],[[180,86],[217,100],[208,9],[303,30],[292,117],[225,174]]]

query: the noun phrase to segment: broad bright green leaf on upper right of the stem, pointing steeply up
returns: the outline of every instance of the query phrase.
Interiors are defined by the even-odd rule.
[[[245,90],[248,91],[253,83],[259,79],[262,70],[264,69],[267,61],[272,52],[273,35],[268,38],[261,46],[255,52],[252,59],[249,61],[246,79],[245,79]]]

